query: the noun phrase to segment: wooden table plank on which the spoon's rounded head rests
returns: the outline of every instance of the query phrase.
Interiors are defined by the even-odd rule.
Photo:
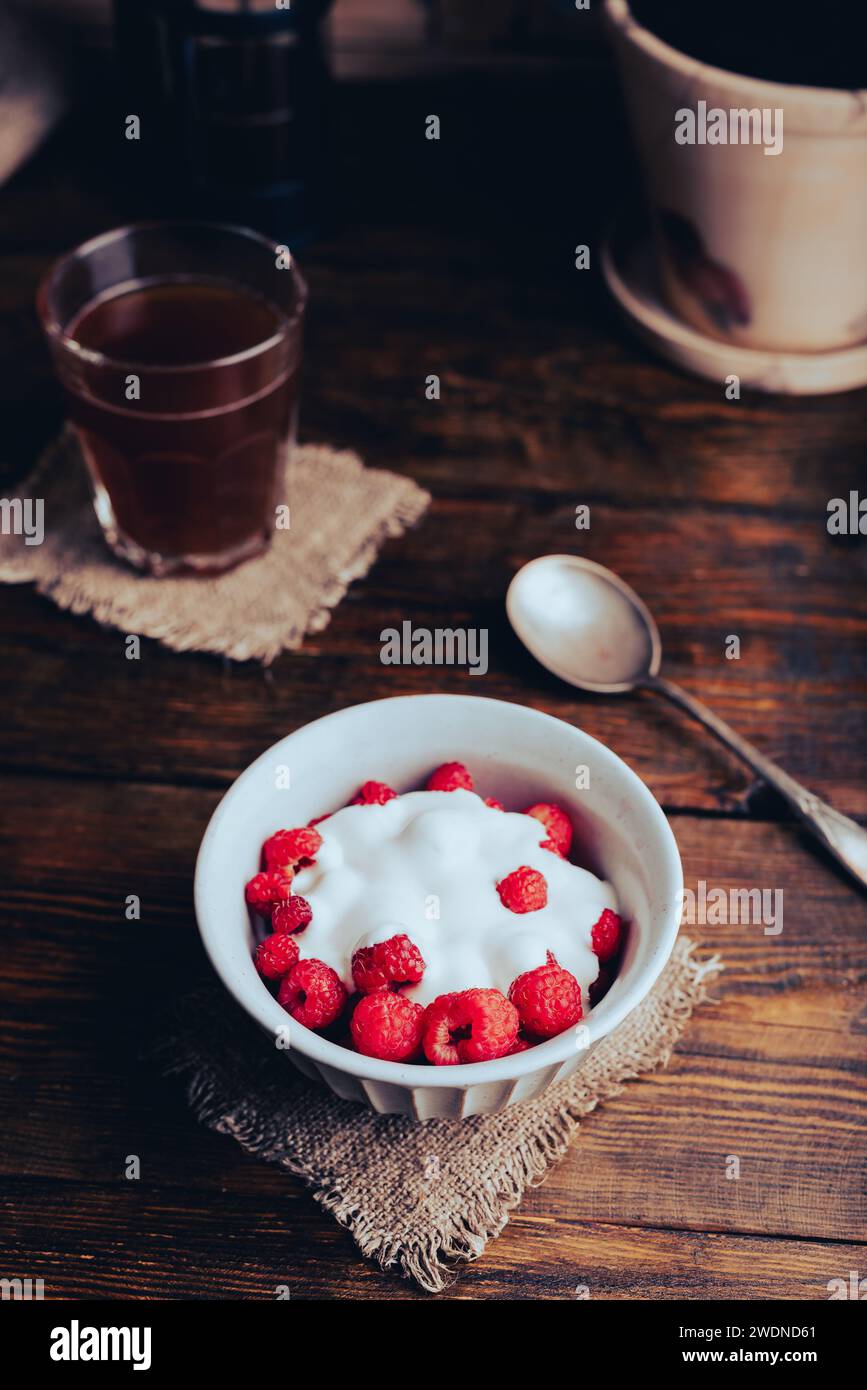
[[[692,512],[663,524],[652,510],[599,505],[579,537],[572,516],[571,502],[439,503],[418,531],[386,545],[327,632],[267,677],[156,644],[128,662],[122,634],[19,592],[0,616],[8,673],[0,763],[225,784],[314,716],[370,694],[442,689],[517,698],[578,723],[628,751],[672,809],[743,810],[752,774],[682,714],[649,696],[581,695],[511,634],[503,610],[511,574],[546,549],[574,548],[610,563],[657,612],[668,674],[839,809],[866,815],[852,748],[867,733],[867,609],[852,580],[860,582],[867,557],[829,545],[821,523]],[[382,667],[379,634],[404,620],[486,627],[488,674]],[[725,657],[731,634],[739,660]]]

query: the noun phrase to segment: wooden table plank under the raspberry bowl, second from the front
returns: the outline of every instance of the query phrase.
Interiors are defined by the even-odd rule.
[[[190,872],[215,794],[10,778],[1,792],[6,1019],[0,1170],[201,1190],[282,1175],[190,1120],[138,1061],[158,1002],[200,973]],[[784,930],[693,926],[725,970],[670,1068],[585,1120],[527,1211],[564,1219],[846,1241],[863,1232],[867,909],[786,827],[678,816],[686,883],[782,887]],[[11,855],[11,847],[17,847]],[[124,922],[126,892],[142,922]],[[38,923],[39,930],[32,930]],[[51,969],[44,970],[46,951]],[[736,1156],[741,1177],[725,1177]]]

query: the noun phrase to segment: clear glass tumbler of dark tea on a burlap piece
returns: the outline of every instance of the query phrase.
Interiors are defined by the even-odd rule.
[[[118,228],[50,270],[39,316],[115,555],[215,574],[268,546],[306,302],[285,246],[210,222]]]

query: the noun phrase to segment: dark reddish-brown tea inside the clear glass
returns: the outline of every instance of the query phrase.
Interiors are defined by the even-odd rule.
[[[267,543],[296,373],[282,368],[275,379],[276,349],[215,363],[283,325],[267,300],[207,281],[124,286],[69,325],[71,338],[107,359],[85,364],[69,386],[69,413],[117,528],[135,546],[214,556],[218,569]],[[131,374],[138,400],[126,399]]]

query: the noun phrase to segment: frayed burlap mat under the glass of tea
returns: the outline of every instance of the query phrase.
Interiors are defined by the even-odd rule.
[[[44,539],[0,534],[0,582],[35,584],[60,607],[175,651],[272,662],[321,631],[388,537],[420,520],[429,495],[410,478],[365,468],[354,453],[302,445],[292,460],[292,525],[260,559],[215,578],[138,574],[108,550],[71,435],[46,452],[13,496],[44,505]]]

